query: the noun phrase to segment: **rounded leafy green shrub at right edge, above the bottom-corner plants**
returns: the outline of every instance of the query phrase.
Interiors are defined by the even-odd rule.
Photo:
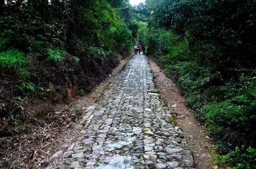
[[[205,106],[205,122],[218,143],[228,147],[252,144],[255,138],[256,115],[246,105],[237,105],[232,100],[210,103]]]

